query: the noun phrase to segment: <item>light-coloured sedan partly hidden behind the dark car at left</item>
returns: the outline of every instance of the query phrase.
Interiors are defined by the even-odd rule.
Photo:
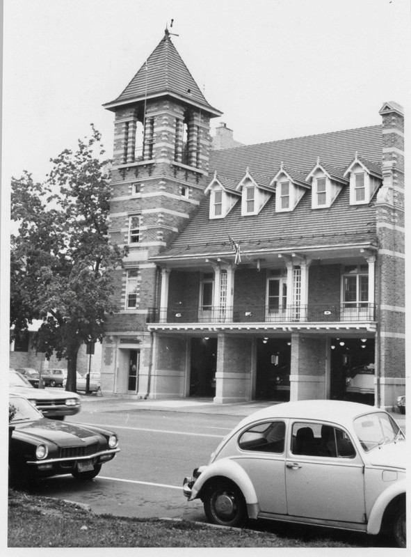
[[[26,377],[17,371],[10,370],[8,377],[10,394],[28,398],[46,418],[63,420],[64,416],[73,416],[81,409],[81,398],[77,393],[66,391],[59,393],[55,389],[53,391],[35,389]]]

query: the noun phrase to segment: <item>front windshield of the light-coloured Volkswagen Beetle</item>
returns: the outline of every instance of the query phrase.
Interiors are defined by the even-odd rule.
[[[398,425],[386,412],[372,412],[355,418],[354,430],[367,453],[385,443],[405,439]]]

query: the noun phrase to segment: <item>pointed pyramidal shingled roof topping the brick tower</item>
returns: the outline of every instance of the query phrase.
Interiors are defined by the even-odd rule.
[[[172,44],[168,29],[159,45],[121,95],[103,106],[108,110],[114,110],[124,104],[167,95],[199,107],[211,116],[221,116],[222,114],[205,100],[193,76]]]

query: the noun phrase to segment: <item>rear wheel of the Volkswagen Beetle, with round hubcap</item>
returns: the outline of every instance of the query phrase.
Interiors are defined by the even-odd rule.
[[[241,526],[247,518],[243,494],[228,480],[219,480],[209,485],[202,500],[207,519],[213,524]]]

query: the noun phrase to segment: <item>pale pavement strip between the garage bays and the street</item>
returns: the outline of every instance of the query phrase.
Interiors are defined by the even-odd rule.
[[[102,405],[104,411],[138,411],[158,410],[172,412],[187,412],[194,414],[227,414],[228,416],[249,416],[261,408],[271,406],[270,400],[253,400],[252,402],[236,402],[233,404],[216,405],[212,398],[177,398],[170,400],[132,399],[122,395],[81,395],[83,409],[90,411],[95,405]],[[390,411],[396,423],[405,431],[405,416]]]

